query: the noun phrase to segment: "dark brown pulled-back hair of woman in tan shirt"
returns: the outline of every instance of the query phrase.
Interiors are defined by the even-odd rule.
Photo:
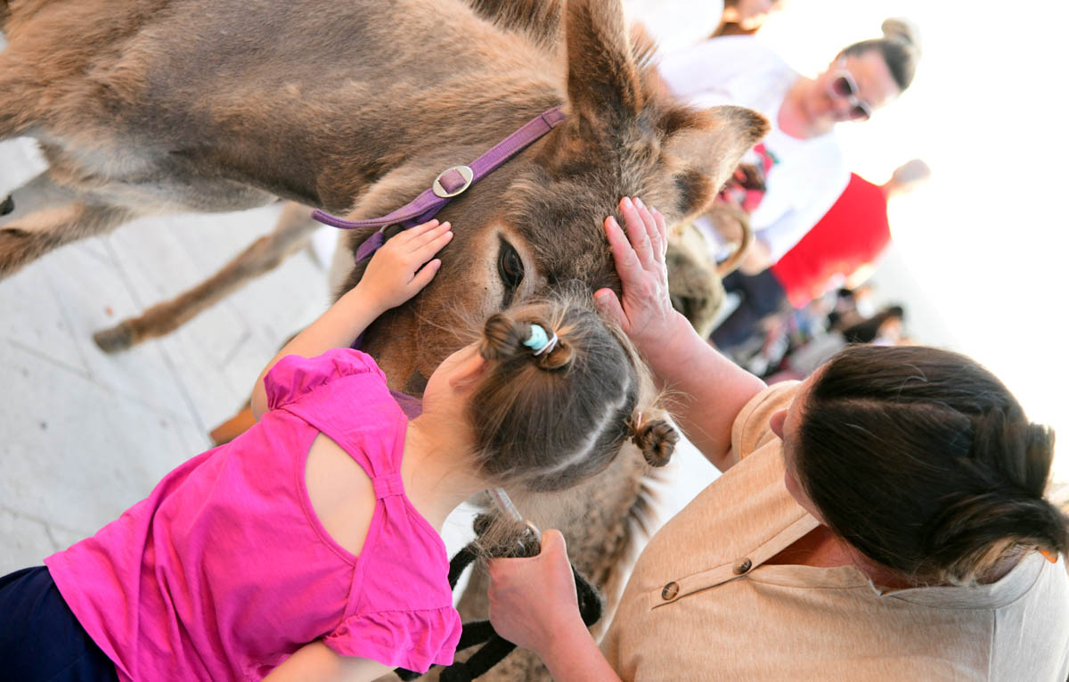
[[[850,346],[803,398],[794,474],[823,521],[915,580],[970,584],[1008,552],[1069,549],[1043,498],[1054,433],[970,358]]]

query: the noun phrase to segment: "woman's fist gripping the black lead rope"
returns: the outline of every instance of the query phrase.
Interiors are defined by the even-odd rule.
[[[492,559],[490,622],[498,635],[543,658],[560,637],[586,632],[564,538],[542,534],[542,551],[527,559]],[[578,629],[578,630],[576,630]]]

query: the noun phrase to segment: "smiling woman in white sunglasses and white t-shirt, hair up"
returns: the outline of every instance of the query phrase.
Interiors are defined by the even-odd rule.
[[[789,251],[820,220],[850,180],[836,124],[866,121],[913,80],[917,37],[900,19],[883,22],[883,37],[841,50],[827,69],[808,78],[750,35],[714,37],[665,55],[659,65],[668,89],[699,107],[738,105],[772,124],[744,162],[765,171],[763,198],[750,214],[757,235],[743,272],[757,274]],[[699,229],[716,239],[711,226]]]

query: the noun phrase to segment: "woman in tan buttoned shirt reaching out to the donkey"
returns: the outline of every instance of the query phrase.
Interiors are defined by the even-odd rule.
[[[766,388],[671,310],[664,221],[606,220],[595,293],[724,476],[654,536],[601,649],[563,540],[491,563],[491,620],[554,679],[1057,680],[1069,675],[1053,433],[969,358],[855,346]]]

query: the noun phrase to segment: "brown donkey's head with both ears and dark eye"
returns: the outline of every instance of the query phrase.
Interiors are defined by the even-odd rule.
[[[699,111],[673,102],[647,64],[649,46],[632,46],[618,2],[572,0],[562,20],[564,122],[438,214],[453,223],[455,236],[439,254],[435,280],[369,329],[366,348],[393,388],[418,394],[424,377],[462,344],[452,330],[513,301],[573,282],[619,292],[602,223],[607,215],[620,217],[620,197],[640,197],[669,223],[693,217],[768,128],[745,109]],[[532,93],[520,120],[559,97],[560,91]],[[499,138],[515,127],[516,112],[501,118]],[[452,159],[434,172],[468,160]],[[393,196],[383,208],[400,206],[429,184],[425,173],[408,175],[384,179]],[[372,192],[383,195],[379,189]],[[356,236],[354,249],[367,235]]]

